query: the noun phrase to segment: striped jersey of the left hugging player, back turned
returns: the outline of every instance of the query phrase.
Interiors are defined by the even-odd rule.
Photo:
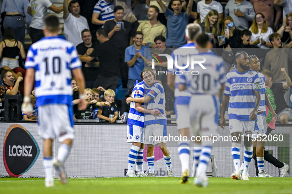
[[[135,85],[131,97],[145,97],[147,93],[145,93],[145,90],[150,90],[150,87],[148,87],[144,81],[139,82]],[[146,105],[144,103],[141,103],[141,105],[146,108]],[[130,111],[128,115],[127,125],[136,125],[139,127],[144,127],[144,113],[138,112],[135,109],[135,102],[130,103]]]

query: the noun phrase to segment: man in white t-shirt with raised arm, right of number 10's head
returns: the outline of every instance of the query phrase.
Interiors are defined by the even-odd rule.
[[[81,32],[84,29],[89,29],[88,23],[85,17],[81,16],[80,13],[80,6],[77,0],[72,0],[69,2],[69,9],[68,10],[68,1],[64,0],[64,36],[66,40],[72,42],[74,46],[82,43],[83,40],[81,38]]]

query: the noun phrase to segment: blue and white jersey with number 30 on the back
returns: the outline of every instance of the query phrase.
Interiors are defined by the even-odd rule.
[[[186,84],[189,92],[193,95],[204,94],[204,95],[218,95],[221,85],[226,82],[226,74],[224,68],[223,59],[213,53],[202,53],[199,56],[204,56],[206,62],[203,69],[200,65],[195,64],[193,69],[189,65],[186,74],[181,75],[180,83]],[[198,71],[198,75],[193,75],[192,71]]]

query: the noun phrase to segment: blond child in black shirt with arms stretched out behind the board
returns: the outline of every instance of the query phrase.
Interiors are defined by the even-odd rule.
[[[86,96],[85,101],[88,104],[85,110],[82,110],[82,111],[78,110],[76,112],[76,115],[75,115],[76,119],[93,119],[94,109],[96,109],[98,106],[110,105],[110,103],[108,102],[98,102],[97,100],[92,99],[93,94],[94,92],[91,89],[89,88],[84,89],[84,95]],[[79,103],[79,99],[74,100],[73,103],[74,104]]]

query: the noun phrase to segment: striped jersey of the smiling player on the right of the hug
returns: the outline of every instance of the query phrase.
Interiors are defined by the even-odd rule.
[[[146,84],[145,84],[146,85]],[[150,113],[145,114],[144,125],[160,124],[167,125],[167,115],[165,112],[165,93],[163,86],[155,82],[150,91],[146,93],[152,99],[148,101],[147,109],[158,109],[161,112],[160,116],[153,116]]]

